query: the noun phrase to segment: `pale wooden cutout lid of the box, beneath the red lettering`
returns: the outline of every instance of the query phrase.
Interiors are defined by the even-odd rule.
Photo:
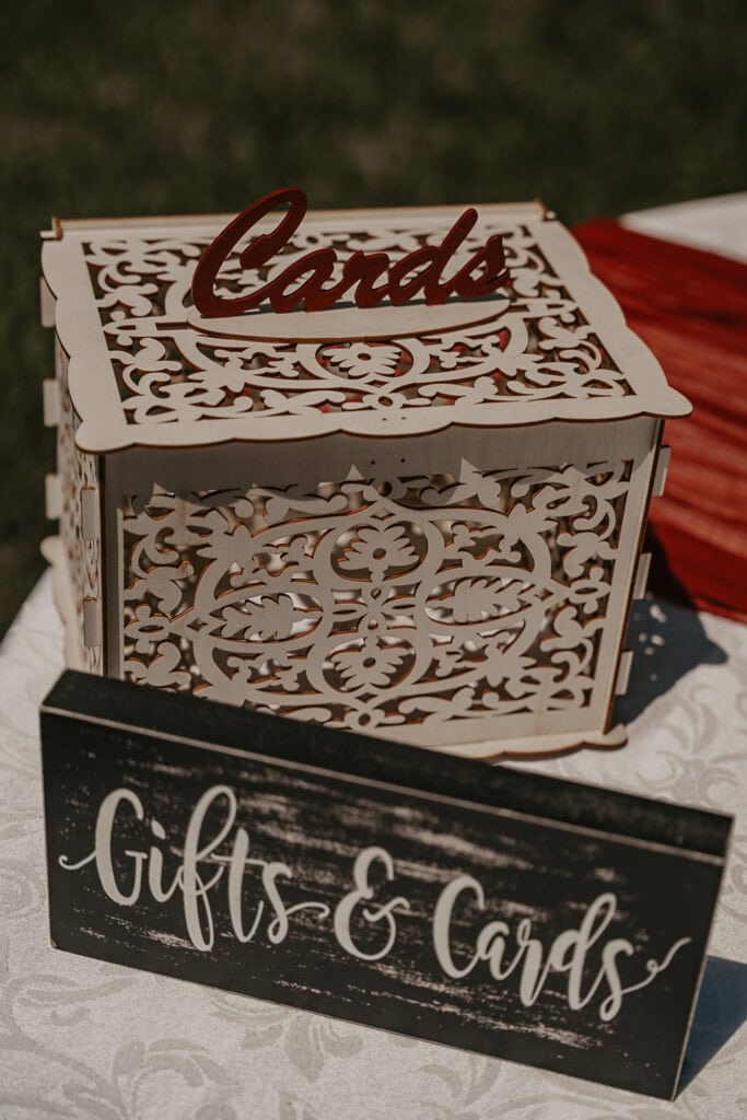
[[[242,242],[217,287],[252,291],[326,245],[340,263],[357,250],[395,262],[440,241],[461,211],[309,212],[265,270],[242,269]],[[541,204],[477,212],[451,267],[502,234],[511,286],[491,298],[284,314],[268,305],[234,320],[203,318],[190,291],[225,215],[56,221],[44,235],[43,271],[69,357],[78,446],[410,437],[690,412]],[[256,231],[273,225],[270,216]]]

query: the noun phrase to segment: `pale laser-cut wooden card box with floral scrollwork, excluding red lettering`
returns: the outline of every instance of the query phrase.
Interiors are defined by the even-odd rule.
[[[396,260],[458,213],[311,213],[278,268]],[[45,235],[68,663],[476,757],[622,741],[662,423],[690,408],[571,235],[484,206],[465,252],[504,235],[494,299],[261,309],[236,337],[190,299],[224,224]]]

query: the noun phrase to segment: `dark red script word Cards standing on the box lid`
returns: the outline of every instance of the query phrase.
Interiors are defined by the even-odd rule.
[[[402,305],[419,292],[423,293],[427,304],[443,304],[449,296],[461,299],[491,296],[508,280],[501,234],[488,237],[454,276],[443,278],[443,270],[477,221],[477,211],[470,208],[456,220],[440,244],[422,245],[394,263],[389,253],[357,250],[343,264],[342,279],[328,287],[325,284],[332,280],[337,253],[334,249],[315,249],[245,296],[217,296],[215,281],[231,252],[252,226],[282,204],[288,204],[289,208],[274,230],[255,237],[239,256],[243,269],[264,268],[289,243],[304,221],[308,204],[298,187],[273,190],[258,199],[205,250],[192,282],[192,296],[200,315],[206,318],[241,315],[265,300],[273,311],[291,311],[299,305],[305,311],[324,311],[352,288],[358,307],[376,307],[386,298],[394,305]]]

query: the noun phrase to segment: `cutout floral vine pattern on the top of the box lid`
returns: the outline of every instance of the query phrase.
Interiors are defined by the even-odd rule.
[[[396,261],[447,227],[435,222],[428,236],[400,223],[340,233],[317,220],[255,273],[244,272],[234,253],[217,290],[252,291],[327,244],[339,259],[336,280],[355,250],[381,250]],[[512,274],[511,298],[494,320],[428,337],[327,344],[216,338],[189,326],[192,278],[208,236],[91,237],[84,253],[128,422],[366,410],[394,416],[433,405],[632,395],[529,226],[483,220],[459,260],[493,233],[504,234]]]

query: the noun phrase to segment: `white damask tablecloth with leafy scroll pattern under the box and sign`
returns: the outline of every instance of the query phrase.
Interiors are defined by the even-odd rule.
[[[690,240],[718,205],[691,209]],[[734,251],[747,195],[722,207]],[[683,214],[629,224],[682,236]],[[63,656],[45,577],[0,647],[0,1120],[744,1120],[747,627],[646,601],[629,644],[628,746],[525,765],[740,815],[671,1104],[53,950],[37,712]]]

